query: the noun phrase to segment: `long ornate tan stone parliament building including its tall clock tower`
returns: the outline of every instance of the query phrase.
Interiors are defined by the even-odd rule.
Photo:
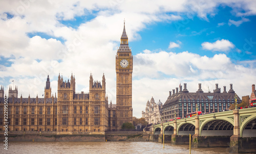
[[[73,74],[68,82],[63,82],[59,74],[57,96],[52,94],[48,75],[44,98],[31,98],[30,95],[18,98],[18,88],[9,87],[7,121],[4,117],[6,94],[1,86],[0,131],[5,122],[8,122],[8,131],[104,134],[120,130],[123,123],[132,123],[133,119],[132,72],[133,56],[124,23],[116,55],[116,104],[109,104],[104,74],[101,82],[95,82],[90,75],[89,93],[76,93]]]

